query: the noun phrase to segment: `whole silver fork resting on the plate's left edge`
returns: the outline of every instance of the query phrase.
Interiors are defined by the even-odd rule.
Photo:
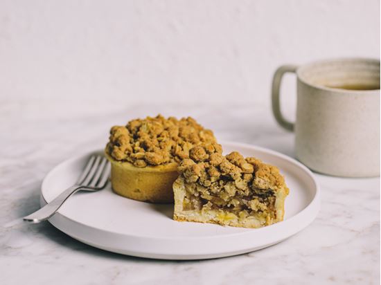
[[[92,155],[87,162],[77,183],[67,188],[64,192],[58,195],[51,203],[44,205],[36,212],[24,217],[24,221],[30,223],[40,223],[49,219],[60,209],[61,205],[74,193],[85,191],[98,191],[107,185],[110,173],[110,165],[104,156]]]

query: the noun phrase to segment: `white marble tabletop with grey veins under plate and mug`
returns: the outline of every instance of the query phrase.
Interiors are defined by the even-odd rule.
[[[267,105],[12,102],[0,104],[0,284],[379,284],[380,178],[315,174],[317,219],[275,246],[236,257],[161,261],[87,246],[44,222],[44,175],[62,160],[103,147],[109,127],[138,116],[193,116],[220,140],[293,156],[294,137]],[[355,165],[354,165],[355,167]]]

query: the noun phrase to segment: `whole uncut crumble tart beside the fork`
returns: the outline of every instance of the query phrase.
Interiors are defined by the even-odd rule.
[[[112,164],[114,192],[139,201],[172,202],[179,162],[200,144],[222,152],[213,132],[190,117],[159,115],[112,127],[105,153]]]

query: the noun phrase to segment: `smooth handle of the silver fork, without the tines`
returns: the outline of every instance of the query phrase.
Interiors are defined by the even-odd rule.
[[[28,221],[30,223],[40,223],[42,221],[46,221],[47,219],[52,217],[58,209],[60,209],[64,201],[66,201],[71,195],[80,190],[81,187],[82,186],[79,185],[73,185],[67,188],[67,190],[64,190],[64,192],[55,197],[55,199],[53,199],[51,203],[47,203],[41,209],[24,217],[24,221]]]

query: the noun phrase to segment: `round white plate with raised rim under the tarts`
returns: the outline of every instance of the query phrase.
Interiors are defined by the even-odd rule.
[[[99,192],[74,194],[49,221],[74,239],[103,250],[157,259],[209,259],[271,246],[314,220],[319,211],[319,187],[310,170],[268,149],[240,143],[222,146],[225,153],[239,151],[281,169],[290,187],[284,221],[259,229],[181,223],[172,220],[173,205],[126,199],[114,194],[109,185]],[[48,173],[42,183],[41,205],[73,185],[90,155],[66,160]]]

